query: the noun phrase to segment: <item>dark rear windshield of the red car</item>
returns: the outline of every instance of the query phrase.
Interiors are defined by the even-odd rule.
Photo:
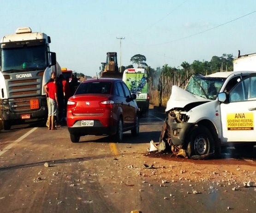
[[[111,83],[110,82],[87,82],[80,84],[77,88],[76,95],[79,94],[88,94],[88,93],[95,93],[95,94],[110,94]]]

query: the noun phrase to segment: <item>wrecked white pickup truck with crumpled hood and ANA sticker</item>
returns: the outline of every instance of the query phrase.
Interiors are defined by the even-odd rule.
[[[172,87],[158,150],[167,146],[190,158],[222,146],[256,144],[256,71],[191,76],[185,89]]]

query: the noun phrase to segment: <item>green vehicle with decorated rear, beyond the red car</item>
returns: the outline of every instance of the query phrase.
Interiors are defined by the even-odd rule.
[[[140,109],[140,114],[147,116],[149,113],[149,88],[146,70],[142,68],[125,69],[123,81],[131,90],[131,93],[137,95],[136,102]]]

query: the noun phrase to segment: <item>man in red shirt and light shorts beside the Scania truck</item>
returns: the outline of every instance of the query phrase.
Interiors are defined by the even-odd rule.
[[[57,97],[57,86],[54,81],[48,82],[48,84],[44,87],[46,94],[48,95],[48,122],[49,127],[48,130],[55,130],[54,125],[54,116],[57,115],[57,107],[58,107],[58,97]]]

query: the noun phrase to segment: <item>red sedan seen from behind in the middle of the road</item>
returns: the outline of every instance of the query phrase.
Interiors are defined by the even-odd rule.
[[[139,133],[136,94],[120,79],[83,81],[67,102],[67,127],[73,143],[84,135],[111,135],[122,141],[123,132]]]

